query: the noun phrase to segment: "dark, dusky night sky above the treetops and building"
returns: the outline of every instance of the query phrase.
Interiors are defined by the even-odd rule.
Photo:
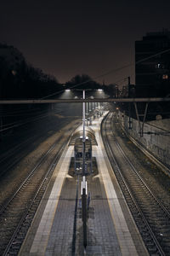
[[[1,1],[0,42],[65,83],[77,74],[105,84],[134,83],[134,42],[146,32],[170,30],[170,1]]]

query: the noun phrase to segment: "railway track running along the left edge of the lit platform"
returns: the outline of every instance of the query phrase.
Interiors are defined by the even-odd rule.
[[[73,131],[74,127],[71,129]],[[71,132],[69,132],[71,133]],[[18,255],[68,138],[57,140],[0,209],[0,255]]]

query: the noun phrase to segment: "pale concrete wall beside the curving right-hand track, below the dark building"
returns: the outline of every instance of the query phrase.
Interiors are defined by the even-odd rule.
[[[132,119],[132,130],[128,129],[129,118],[126,115],[118,113],[118,120],[129,136],[170,168],[170,119],[144,123],[143,137],[139,134],[138,120]]]

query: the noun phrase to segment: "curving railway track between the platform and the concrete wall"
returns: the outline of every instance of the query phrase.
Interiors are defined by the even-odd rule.
[[[170,255],[170,212],[140,177],[113,133],[113,116],[102,123],[102,137],[116,178],[150,255]]]

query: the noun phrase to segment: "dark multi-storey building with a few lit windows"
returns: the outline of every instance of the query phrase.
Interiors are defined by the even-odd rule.
[[[137,97],[170,95],[170,32],[150,32],[135,42],[135,79]]]

